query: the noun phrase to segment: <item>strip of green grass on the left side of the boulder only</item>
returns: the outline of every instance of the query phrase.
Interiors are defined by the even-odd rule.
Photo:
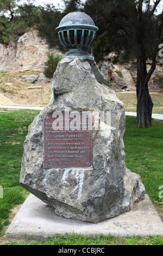
[[[0,112],[0,186],[3,198],[0,198],[0,235],[3,226],[8,225],[10,209],[24,202],[24,190],[19,184],[23,143],[27,127],[38,111]]]

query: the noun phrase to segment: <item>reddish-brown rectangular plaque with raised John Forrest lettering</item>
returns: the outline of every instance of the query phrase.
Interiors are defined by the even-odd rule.
[[[92,113],[45,113],[45,168],[92,168]]]

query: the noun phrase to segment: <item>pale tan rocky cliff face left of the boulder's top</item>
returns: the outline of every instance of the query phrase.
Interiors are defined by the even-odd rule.
[[[48,46],[35,31],[25,33],[16,45],[6,47],[0,44],[0,70],[42,68],[47,60],[47,52]]]

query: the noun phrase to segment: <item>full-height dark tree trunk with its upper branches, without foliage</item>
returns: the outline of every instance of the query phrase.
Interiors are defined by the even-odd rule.
[[[136,1],[135,1],[136,2]],[[149,10],[150,1],[148,2],[148,11],[149,20],[156,7],[158,6],[160,0],[156,0],[154,3],[154,7],[152,10]],[[152,47],[151,45],[151,53],[152,53],[152,66],[151,69],[147,72],[146,65],[146,53],[147,53],[147,42],[145,39],[145,16],[143,15],[143,1],[139,0],[137,2],[137,8],[135,8],[135,17],[136,17],[136,30],[137,30],[137,84],[136,84],[136,94],[137,94],[137,127],[151,127],[152,126],[152,109],[153,109],[153,101],[151,96],[149,95],[148,90],[148,82],[151,78],[155,67],[156,67],[156,54],[158,52],[158,44],[159,39],[162,33],[163,26],[163,12],[162,12],[162,20],[159,27],[159,34],[156,37],[155,45]],[[150,44],[149,46],[150,47]]]

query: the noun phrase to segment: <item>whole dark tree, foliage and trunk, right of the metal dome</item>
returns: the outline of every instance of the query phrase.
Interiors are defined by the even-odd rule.
[[[119,59],[134,60],[137,65],[137,127],[152,125],[153,102],[148,82],[156,66],[156,56],[163,27],[163,10],[155,15],[161,0],[87,0],[84,11],[99,27],[93,47],[95,60],[109,52]],[[98,51],[99,49],[99,51]],[[98,52],[98,54],[97,54]],[[147,70],[147,59],[152,60]]]

